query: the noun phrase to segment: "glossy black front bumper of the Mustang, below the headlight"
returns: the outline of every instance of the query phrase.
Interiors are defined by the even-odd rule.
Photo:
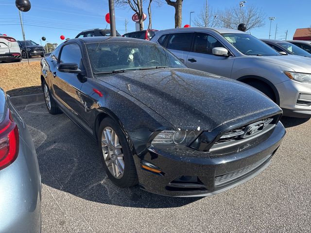
[[[223,192],[246,182],[270,164],[285,135],[278,122],[273,133],[256,145],[240,147],[228,154],[203,152],[185,147],[149,147],[134,157],[142,189],[166,196],[200,197]],[[137,142],[136,142],[137,143]],[[142,168],[147,161],[156,173]]]

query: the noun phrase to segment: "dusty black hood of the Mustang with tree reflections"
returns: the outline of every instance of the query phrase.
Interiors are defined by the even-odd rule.
[[[141,101],[175,129],[209,131],[281,111],[248,85],[188,68],[104,74],[98,79]]]

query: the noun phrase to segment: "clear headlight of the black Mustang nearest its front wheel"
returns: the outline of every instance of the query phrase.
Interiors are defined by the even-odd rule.
[[[202,131],[162,131],[158,133],[152,145],[189,146]]]

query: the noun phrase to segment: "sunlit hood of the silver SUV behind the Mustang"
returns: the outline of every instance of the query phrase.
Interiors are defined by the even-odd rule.
[[[295,55],[282,55],[282,56],[256,56],[257,59],[269,63],[274,63],[283,67],[288,67],[292,70],[301,73],[311,73],[311,58],[295,56]]]

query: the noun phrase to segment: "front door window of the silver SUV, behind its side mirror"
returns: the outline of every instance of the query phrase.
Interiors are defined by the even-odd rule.
[[[206,33],[196,33],[193,52],[213,54],[213,48],[216,47],[224,48],[215,37]]]

